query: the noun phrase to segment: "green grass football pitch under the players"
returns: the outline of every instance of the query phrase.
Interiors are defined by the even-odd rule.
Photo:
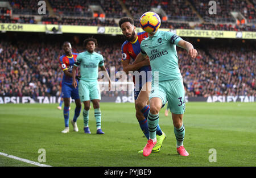
[[[255,166],[256,103],[188,102],[184,114],[184,146],[188,157],[177,155],[171,114],[160,111],[159,125],[167,138],[159,153],[139,154],[146,144],[134,104],[101,103],[102,130],[96,134],[94,110],[89,112],[92,134],[84,134],[82,113],[79,132],[61,134],[63,111],[57,104],[0,105],[0,152],[38,162],[38,150],[46,150],[52,166],[173,167]],[[71,105],[69,121],[75,104]],[[216,150],[216,162],[209,162],[209,150]],[[0,166],[34,166],[0,155]]]

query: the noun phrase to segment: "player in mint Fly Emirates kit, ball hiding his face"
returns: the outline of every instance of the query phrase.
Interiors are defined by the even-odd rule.
[[[176,149],[178,154],[188,156],[183,146],[185,127],[183,114],[185,112],[185,90],[183,78],[178,65],[176,45],[187,50],[190,57],[197,56],[193,45],[170,31],[158,30],[159,16],[147,12],[141,16],[140,24],[144,31],[150,31],[148,38],[141,42],[141,53],[137,55],[138,61],[143,61],[147,55],[152,70],[152,84],[150,93],[150,111],[148,112],[148,130],[150,139],[143,149],[143,155],[151,154],[155,146],[156,131],[154,128],[159,122],[159,111],[168,101],[172,113],[174,133],[176,136]],[[155,25],[155,28],[152,26]]]

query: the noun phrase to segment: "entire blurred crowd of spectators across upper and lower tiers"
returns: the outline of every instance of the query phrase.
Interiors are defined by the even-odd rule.
[[[135,25],[149,10],[158,11],[161,28],[256,31],[256,1],[220,0],[217,13],[209,14],[208,0],[48,0],[46,14],[38,15],[38,1],[5,0],[11,9],[0,7],[0,23],[63,24],[79,26],[118,26],[118,19],[131,15]],[[93,10],[93,6],[101,10]],[[155,9],[151,9],[154,7]],[[51,13],[49,13],[51,11]],[[246,19],[236,22],[230,12],[238,11]],[[102,16],[103,13],[103,16]],[[51,14],[51,15],[50,15]],[[204,22],[200,22],[199,18]],[[124,41],[124,39],[122,39]],[[110,71],[122,71],[121,44],[100,43],[97,52],[104,56],[105,66]],[[84,49],[73,46],[73,52]],[[187,96],[208,95],[256,95],[255,45],[204,44],[199,56],[191,59],[187,52],[177,48],[179,65],[184,77]],[[59,56],[63,54],[61,44],[35,41],[0,41],[0,96],[59,96],[63,72],[59,67]],[[101,80],[101,79],[100,79]],[[129,92],[104,92],[104,96],[130,95]]]

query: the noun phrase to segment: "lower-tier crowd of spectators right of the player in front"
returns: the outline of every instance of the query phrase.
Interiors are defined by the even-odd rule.
[[[207,45],[196,59],[178,50],[187,96],[255,96],[256,52],[253,47]]]

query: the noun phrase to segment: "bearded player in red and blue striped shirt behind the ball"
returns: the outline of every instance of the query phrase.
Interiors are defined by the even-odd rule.
[[[123,71],[127,74],[129,71],[146,72],[146,80],[143,80],[142,76],[139,76],[139,82],[134,80],[134,99],[135,99],[135,109],[136,117],[141,127],[142,132],[149,139],[147,115],[150,110],[150,106],[147,105],[148,97],[151,90],[151,73],[148,75],[148,71],[151,71],[149,60],[144,60],[140,63],[134,61],[138,53],[141,52],[141,42],[144,38],[148,37],[147,32],[137,33],[135,31],[134,20],[128,17],[123,17],[119,20],[119,27],[122,30],[126,41],[121,47],[122,51],[122,65]],[[130,64],[130,62],[133,62]],[[134,77],[135,79],[135,77]],[[160,147],[162,147],[163,140],[166,138],[166,134],[162,132],[159,125],[156,127],[156,137],[158,143],[153,148],[152,152],[159,152]],[[139,151],[142,152],[142,151]]]

